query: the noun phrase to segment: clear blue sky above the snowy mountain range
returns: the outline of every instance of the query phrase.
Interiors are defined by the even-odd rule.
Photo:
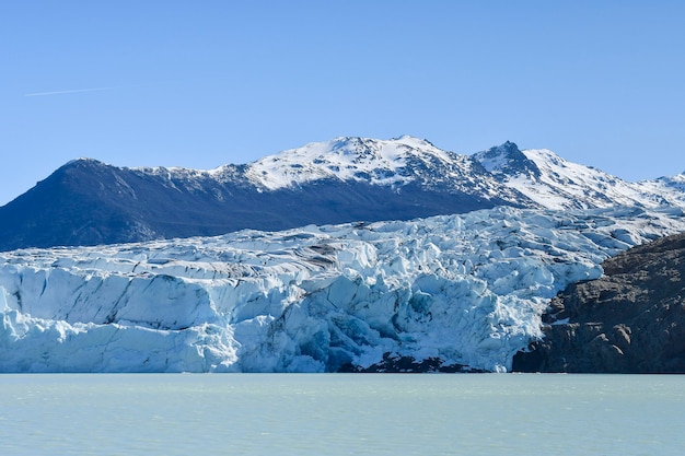
[[[683,1],[2,1],[0,204],[69,160],[213,168],[337,136],[685,171]]]

